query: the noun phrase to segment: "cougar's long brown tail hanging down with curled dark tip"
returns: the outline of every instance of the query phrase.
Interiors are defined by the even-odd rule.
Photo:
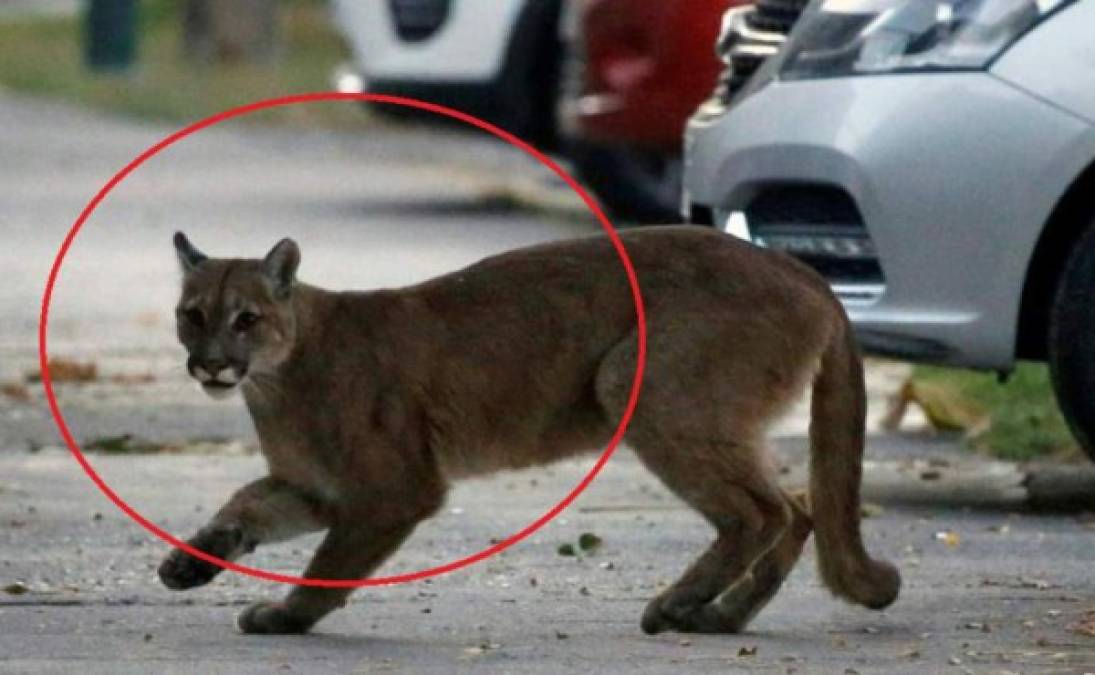
[[[833,594],[881,609],[897,599],[897,568],[872,560],[860,535],[866,392],[846,320],[821,357],[810,408],[810,512],[821,579]]]

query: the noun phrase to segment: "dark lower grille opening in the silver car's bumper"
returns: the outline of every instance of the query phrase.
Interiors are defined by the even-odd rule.
[[[791,253],[832,284],[883,284],[875,244],[852,197],[831,185],[762,190],[745,209],[752,240]]]

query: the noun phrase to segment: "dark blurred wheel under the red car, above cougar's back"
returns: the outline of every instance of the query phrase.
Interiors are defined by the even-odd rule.
[[[680,221],[680,156],[586,140],[572,141],[567,156],[613,216],[638,224]]]

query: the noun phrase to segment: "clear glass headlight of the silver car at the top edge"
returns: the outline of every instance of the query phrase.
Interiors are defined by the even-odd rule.
[[[976,70],[1072,0],[825,0],[803,14],[780,77]]]

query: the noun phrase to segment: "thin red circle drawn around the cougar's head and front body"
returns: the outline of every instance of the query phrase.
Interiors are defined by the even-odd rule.
[[[509,142],[517,148],[520,148],[525,152],[531,155],[538,159],[543,165],[551,169],[558,175],[567,185],[574,190],[575,193],[586,203],[589,210],[592,211],[597,219],[600,221],[601,227],[608,233],[609,239],[611,239],[612,244],[615,247],[616,253],[620,256],[620,262],[623,264],[624,271],[627,274],[627,283],[631,285],[632,298],[635,301],[635,316],[638,322],[638,357],[635,364],[635,377],[632,380],[631,394],[627,400],[627,408],[624,410],[623,416],[620,420],[619,426],[616,426],[615,434],[609,442],[608,447],[601,453],[598,458],[597,464],[587,473],[569,493],[566,494],[557,504],[551,507],[546,513],[541,515],[539,518],[533,520],[530,525],[526,526],[523,529],[515,535],[511,535],[507,539],[491,546],[489,548],[483,549],[477,553],[473,553],[465,558],[454,560],[447,564],[437,565],[428,568],[426,570],[419,570],[417,572],[408,572],[406,574],[396,574],[392,576],[374,576],[371,579],[351,580],[351,579],[304,579],[302,576],[292,576],[290,574],[276,574],[274,572],[267,572],[265,570],[260,570],[256,568],[250,568],[246,565],[235,564],[227,560],[217,558],[216,556],[210,556],[205,551],[199,551],[191,545],[182,541],[174,536],[168,534],[160,527],[158,527],[151,520],[145,518],[135,511],[129,504],[127,504],[110,485],[95,472],[95,470],[88,462],[84,457],[83,451],[77,444],[76,439],[72,437],[72,433],[69,431],[68,424],[65,422],[65,417],[61,415],[60,408],[57,404],[57,398],[54,394],[54,382],[49,374],[49,359],[48,351],[46,348],[46,335],[49,325],[49,302],[54,293],[54,285],[57,282],[57,275],[60,272],[61,264],[65,260],[65,255],[68,253],[69,248],[72,245],[72,240],[76,238],[80,228],[83,227],[84,221],[91,216],[99,204],[106,197],[106,195],[117,186],[126,176],[132,173],[138,167],[140,167],[149,158],[155,156],[158,152],[164,148],[173,145],[174,142],[186,138],[191,134],[199,131],[201,129],[211,127],[215,124],[224,122],[226,119],[231,119],[233,117],[239,117],[241,115],[246,115],[249,113],[254,113],[261,110],[267,110],[272,107],[279,107],[283,105],[293,105],[297,103],[309,103],[314,101],[369,101],[372,103],[384,103],[391,105],[403,105],[407,107],[414,107],[427,112],[431,112],[439,115],[446,115],[452,117],[453,119],[459,119],[465,124],[479,127],[503,140]],[[69,449],[72,451],[73,457],[83,468],[88,477],[91,478],[92,482],[99,487],[99,489],[114,502],[114,505],[120,508],[127,516],[136,520],[145,529],[152,533],[160,539],[166,541],[168,544],[180,548],[195,558],[200,558],[206,562],[219,565],[226,570],[232,570],[233,572],[239,572],[241,574],[247,574],[250,576],[255,576],[258,579],[265,579],[267,581],[277,581],[283,583],[298,584],[304,586],[324,586],[331,588],[337,587],[359,587],[359,586],[380,586],[385,584],[397,584],[403,582],[416,581],[419,579],[426,579],[429,576],[436,576],[438,574],[445,574],[446,572],[452,572],[461,568],[465,568],[472,563],[485,560],[495,553],[498,553],[510,546],[514,546],[521,539],[525,539],[532,533],[537,531],[541,527],[548,524],[549,520],[557,516],[563,512],[564,508],[570,505],[575,499],[592,482],[597,474],[600,473],[601,469],[608,462],[612,453],[615,451],[620,442],[623,441],[624,432],[627,428],[627,424],[631,422],[632,414],[635,412],[635,405],[638,402],[638,391],[643,381],[643,370],[646,367],[646,318],[645,310],[643,307],[643,297],[638,289],[638,279],[635,276],[635,268],[632,266],[631,259],[627,258],[627,251],[624,249],[623,243],[620,241],[620,237],[616,234],[615,228],[601,211],[597,203],[581,188],[578,183],[570,178],[558,164],[556,164],[552,159],[544,156],[542,152],[525,142],[520,138],[517,138],[512,134],[496,127],[495,125],[484,122],[477,117],[462,113],[457,110],[446,107],[443,105],[437,105],[435,103],[427,103],[424,101],[417,101],[415,99],[406,99],[403,96],[389,96],[382,94],[355,94],[355,93],[341,93],[341,92],[316,92],[307,94],[295,94],[289,96],[280,96],[277,99],[267,99],[265,101],[256,101],[254,103],[249,103],[247,105],[241,105],[239,107],[233,107],[224,112],[212,115],[211,117],[206,117],[199,122],[175,131],[174,134],[168,136],[166,138],[160,140],[152,147],[148,148],[143,152],[137,156],[136,159],[126,164],[120,171],[118,171],[114,176],[106,182],[97,194],[84,206],[80,216],[76,219],[72,228],[69,230],[68,234],[65,237],[65,241],[61,242],[60,250],[57,252],[57,256],[54,259],[53,267],[49,270],[49,278],[46,282],[46,290],[42,298],[42,313],[38,319],[38,363],[42,368],[42,385],[45,388],[46,399],[49,401],[49,411],[53,414],[54,422],[56,422],[58,430],[60,430],[61,436],[65,438],[65,443],[68,445]]]

